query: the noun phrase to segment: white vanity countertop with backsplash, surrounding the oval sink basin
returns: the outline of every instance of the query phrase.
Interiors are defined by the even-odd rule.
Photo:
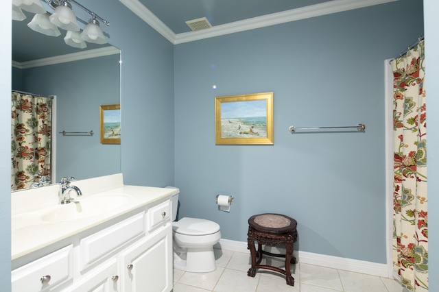
[[[130,196],[127,202],[108,212],[73,221],[48,222],[42,219],[42,216],[50,210],[60,208],[57,185],[12,193],[12,260],[163,199],[177,191],[173,188],[126,186],[122,182],[121,173],[71,182],[72,186],[81,189],[82,197],[112,194]]]

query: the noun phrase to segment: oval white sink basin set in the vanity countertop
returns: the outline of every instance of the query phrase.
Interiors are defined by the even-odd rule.
[[[73,199],[69,204],[58,205],[41,216],[43,221],[61,222],[84,219],[110,212],[130,199],[126,194],[92,195]]]

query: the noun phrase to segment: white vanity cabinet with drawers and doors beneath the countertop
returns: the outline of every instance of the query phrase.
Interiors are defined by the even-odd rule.
[[[171,291],[170,197],[129,214],[14,269],[12,291]]]

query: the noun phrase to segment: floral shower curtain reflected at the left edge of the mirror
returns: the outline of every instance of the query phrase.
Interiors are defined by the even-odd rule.
[[[12,92],[11,191],[29,188],[34,175],[50,175],[50,97]]]

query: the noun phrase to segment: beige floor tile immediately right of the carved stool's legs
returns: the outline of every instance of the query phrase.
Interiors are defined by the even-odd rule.
[[[328,267],[300,264],[300,283],[343,291],[338,271]]]

